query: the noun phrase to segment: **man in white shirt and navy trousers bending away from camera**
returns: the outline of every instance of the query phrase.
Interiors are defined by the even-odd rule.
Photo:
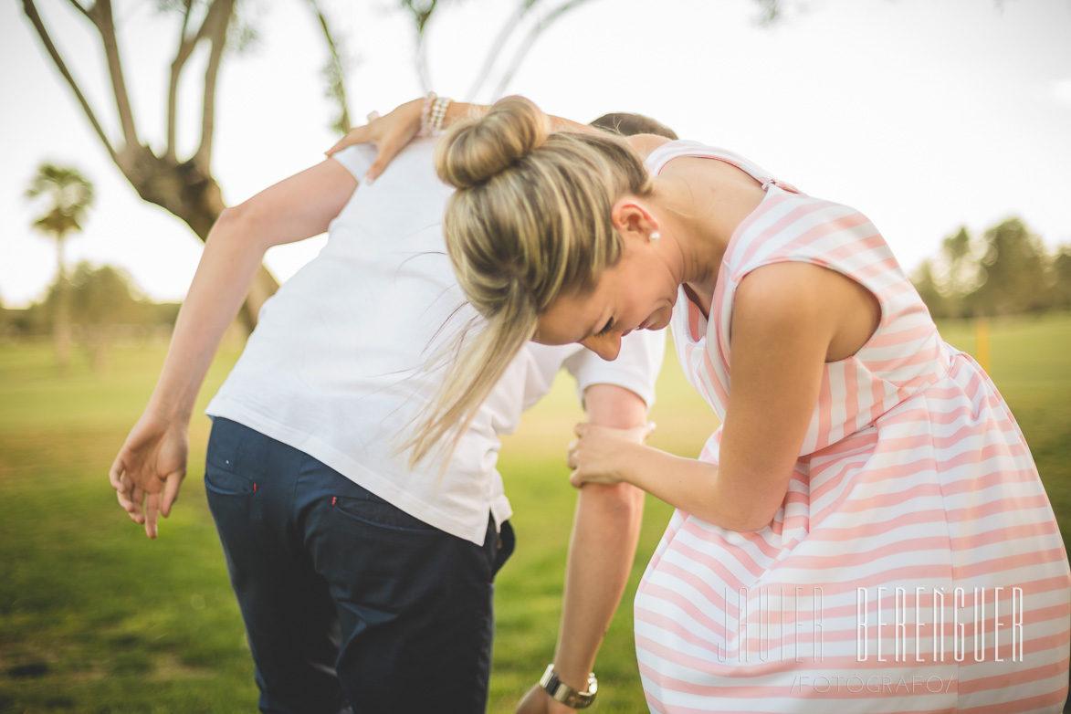
[[[512,550],[498,435],[561,366],[593,423],[638,427],[653,400],[661,334],[631,335],[615,362],[532,345],[441,473],[432,460],[408,467],[396,445],[437,393],[428,360],[474,316],[443,252],[450,189],[432,151],[417,142],[358,186],[373,153],[355,147],[228,209],[111,469],[120,504],[155,537],[185,472],[197,390],[265,250],[329,229],[320,255],[265,304],[207,409],[206,491],[265,712],[484,711],[492,583]],[[563,681],[590,671],[628,579],[642,499],[631,487],[579,492]]]

